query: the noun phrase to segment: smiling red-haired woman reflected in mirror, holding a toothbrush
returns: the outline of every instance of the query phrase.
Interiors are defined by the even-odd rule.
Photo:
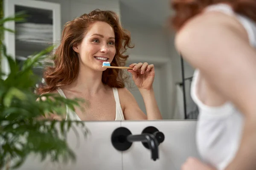
[[[123,66],[131,47],[131,37],[112,11],[94,10],[68,22],[62,32],[61,44],[55,51],[55,67],[44,73],[46,86],[42,93],[59,93],[85,102],[67,107],[64,119],[128,120],[162,119],[154,97],[154,65],[134,63],[128,70],[145,101],[147,115],[140,110],[134,96],[125,88],[121,69],[102,68],[103,62]],[[51,119],[60,119],[52,114]]]

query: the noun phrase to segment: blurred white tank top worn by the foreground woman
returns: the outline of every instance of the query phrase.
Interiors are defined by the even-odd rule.
[[[252,20],[234,13],[226,4],[208,6],[207,11],[221,11],[235,16],[246,29],[250,44],[256,48],[256,24]],[[223,170],[239,148],[244,116],[231,102],[218,107],[204,105],[196,95],[199,74],[199,70],[195,70],[191,84],[191,96],[199,109],[196,133],[198,152],[206,163]]]

